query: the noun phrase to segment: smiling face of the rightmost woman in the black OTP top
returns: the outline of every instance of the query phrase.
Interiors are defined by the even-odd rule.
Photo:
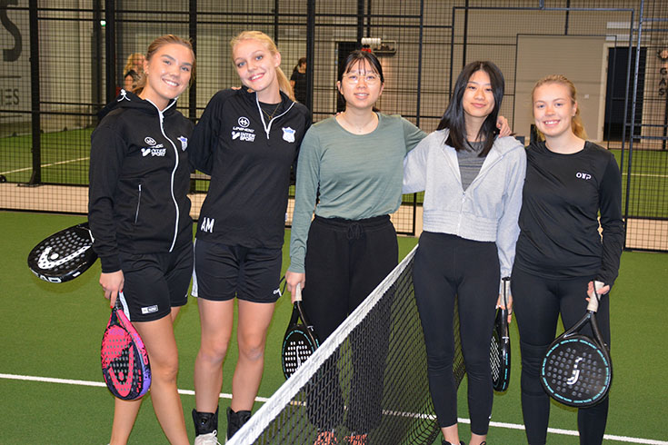
[[[573,132],[577,103],[564,84],[542,84],[533,90],[533,119],[545,137],[559,137]]]

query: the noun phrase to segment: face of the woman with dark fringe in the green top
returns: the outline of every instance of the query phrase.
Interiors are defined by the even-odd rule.
[[[352,64],[336,83],[345,99],[345,108],[373,108],[383,93],[384,84],[374,66],[365,60]]]

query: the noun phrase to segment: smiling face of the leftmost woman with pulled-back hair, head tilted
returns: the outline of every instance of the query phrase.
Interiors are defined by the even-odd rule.
[[[184,44],[164,44],[144,63],[146,84],[140,97],[164,109],[190,82],[194,56]]]

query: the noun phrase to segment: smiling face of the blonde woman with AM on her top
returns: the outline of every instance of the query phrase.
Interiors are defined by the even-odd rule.
[[[232,59],[242,84],[257,92],[261,102],[274,104],[280,100],[276,67],[281,64],[281,54],[272,54],[260,41],[245,39],[234,45]]]

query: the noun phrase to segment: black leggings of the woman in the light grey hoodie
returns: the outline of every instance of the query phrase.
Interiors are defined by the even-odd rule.
[[[500,274],[494,242],[434,232],[420,236],[413,271],[415,300],[424,330],[429,391],[441,428],[457,423],[453,376],[456,295],[471,431],[485,435],[489,429],[494,398],[489,349]]]

